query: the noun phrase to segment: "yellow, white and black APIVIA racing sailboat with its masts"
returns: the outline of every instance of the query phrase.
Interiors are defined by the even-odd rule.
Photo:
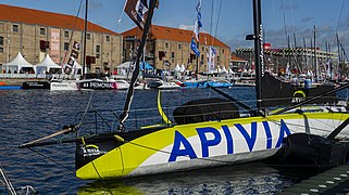
[[[257,110],[221,93],[225,99],[203,99],[188,102],[174,112],[175,122],[163,116],[163,125],[142,128],[126,126],[135,81],[139,72],[139,58],[145,44],[157,0],[129,0],[142,20],[142,39],[134,58],[135,69],[127,92],[124,112],[119,117],[119,128],[99,132],[104,120],[66,126],[63,130],[21,147],[34,147],[58,143],[75,143],[76,177],[79,179],[113,179],[146,174],[184,171],[214,166],[234,165],[261,160],[273,156],[282,147],[283,140],[302,132],[326,136],[341,127],[336,138],[349,136],[349,118],[346,106],[333,103],[311,105],[312,101],[347,88],[341,86],[292,106],[269,110],[263,108],[261,82],[263,70],[263,31],[261,25],[261,1],[253,1],[254,34],[247,38],[254,41],[257,61]],[[135,12],[137,13],[137,12]],[[220,92],[220,91],[217,91]],[[159,100],[158,100],[159,101]],[[158,102],[158,105],[160,103]],[[248,110],[241,115],[240,109]],[[161,110],[161,109],[159,109]],[[85,117],[86,112],[82,115]],[[100,115],[97,115],[98,117]],[[113,113],[113,116],[114,113]],[[94,133],[84,133],[88,126],[96,127]],[[91,132],[91,131],[88,131]],[[71,133],[72,139],[48,141],[59,134]]]

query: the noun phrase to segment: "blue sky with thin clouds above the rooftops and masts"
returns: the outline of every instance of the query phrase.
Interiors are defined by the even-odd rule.
[[[2,4],[23,6],[62,14],[76,15],[83,1],[80,17],[85,14],[86,0],[0,0]],[[234,51],[252,47],[245,40],[252,34],[252,0],[201,0],[202,31],[210,32]],[[160,0],[153,24],[174,28],[192,29],[198,0]],[[125,0],[89,0],[88,20],[95,24],[123,32],[135,24],[123,14]],[[262,24],[265,42],[272,48],[311,46],[316,29],[316,46],[325,50],[337,49],[336,32],[346,50],[349,49],[348,0],[262,0]],[[120,20],[121,18],[121,20]],[[348,53],[348,51],[347,51]]]

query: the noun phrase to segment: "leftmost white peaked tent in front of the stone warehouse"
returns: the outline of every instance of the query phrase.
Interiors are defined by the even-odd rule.
[[[11,70],[11,73],[35,72],[34,66],[23,57],[21,52],[18,52],[17,56],[11,62],[5,64],[4,67],[7,73],[9,73],[9,70]]]

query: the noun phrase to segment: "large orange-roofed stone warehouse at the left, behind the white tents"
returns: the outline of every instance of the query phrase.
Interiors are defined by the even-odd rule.
[[[51,12],[0,4],[0,66],[18,52],[33,65],[49,54],[57,64],[70,57],[73,43],[80,43],[77,63],[83,63],[85,21]],[[122,62],[121,35],[89,23],[85,67],[88,73],[113,72]]]

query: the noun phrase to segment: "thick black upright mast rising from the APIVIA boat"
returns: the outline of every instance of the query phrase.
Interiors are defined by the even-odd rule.
[[[262,46],[263,29],[261,16],[261,0],[253,1],[254,58],[255,58],[255,93],[257,108],[262,107],[262,76],[264,75],[264,50]]]

